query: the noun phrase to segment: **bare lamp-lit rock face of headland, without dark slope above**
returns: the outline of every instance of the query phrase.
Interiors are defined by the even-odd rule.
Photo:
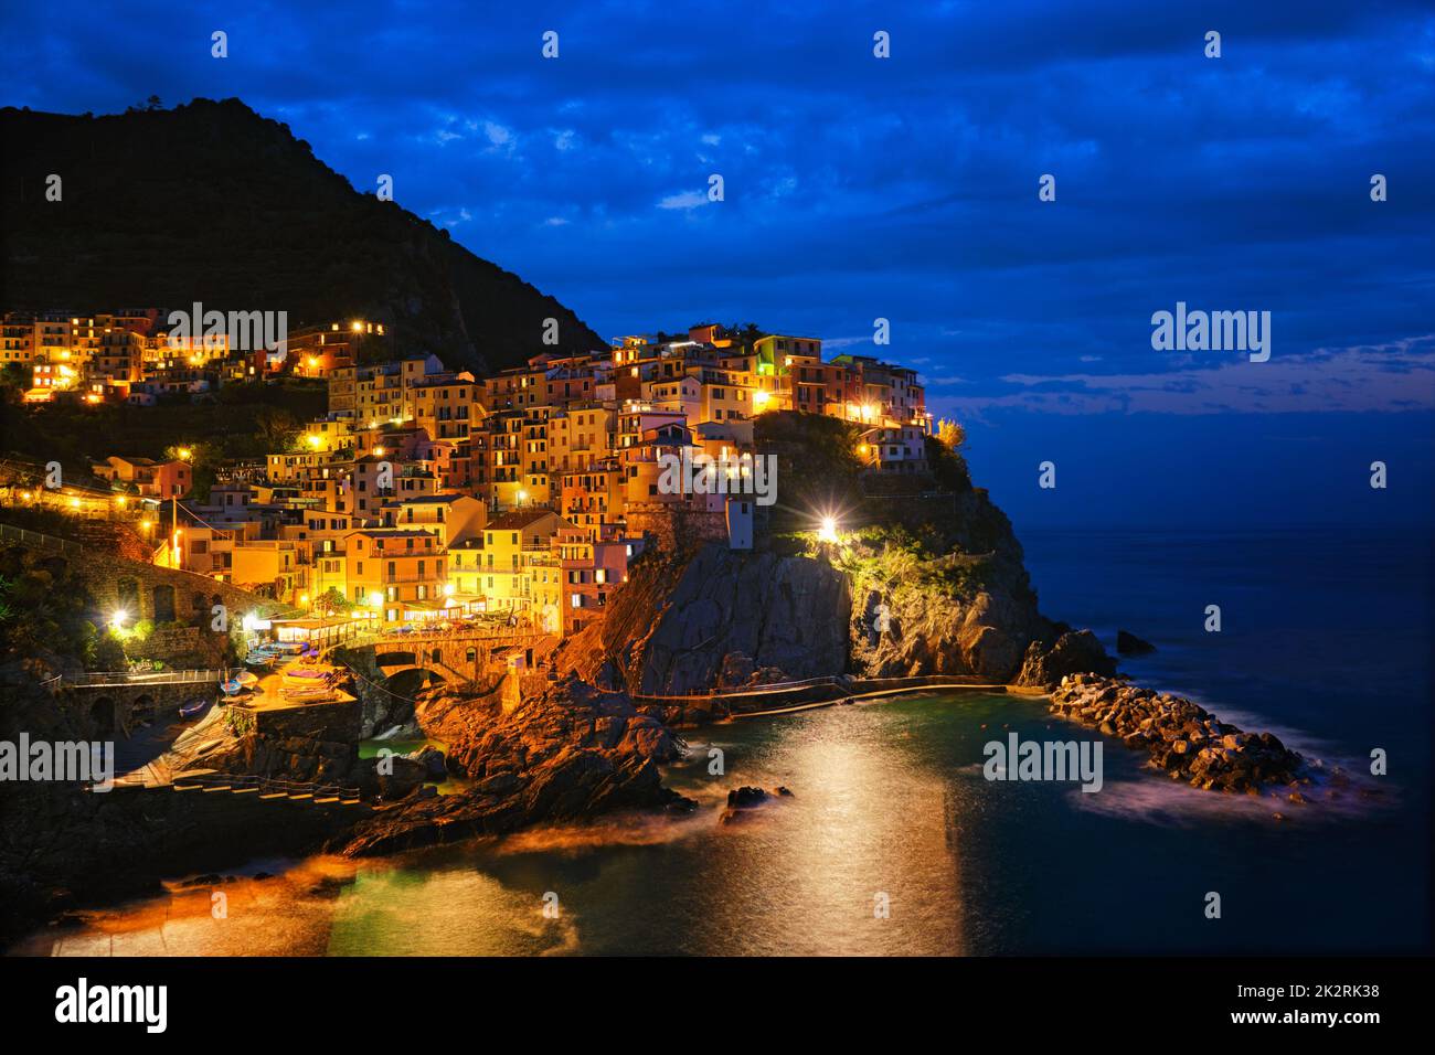
[[[1010,522],[973,488],[916,530],[864,528],[808,555],[713,544],[644,563],[606,620],[565,642],[560,667],[672,696],[839,673],[1009,682],[1023,660],[1033,685],[1108,672],[1089,634],[1093,650],[1068,643],[1043,665],[1063,630],[1038,610]]]

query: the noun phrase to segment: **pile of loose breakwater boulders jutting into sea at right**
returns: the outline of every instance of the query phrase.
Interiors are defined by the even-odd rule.
[[[1071,675],[1052,692],[1050,711],[1151,754],[1151,764],[1192,788],[1258,794],[1290,785],[1302,802],[1304,759],[1273,733],[1250,733],[1168,692],[1114,677]]]

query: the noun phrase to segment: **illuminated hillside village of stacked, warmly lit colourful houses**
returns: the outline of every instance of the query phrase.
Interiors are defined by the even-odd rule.
[[[768,412],[851,422],[864,472],[927,468],[917,373],[825,360],[817,337],[702,324],[475,376],[436,355],[385,357],[392,327],[369,320],[250,350],[166,332],[164,317],[9,313],[0,369],[27,373],[27,403],[146,408],[293,378],[321,382],[327,412],[263,461],[214,466],[207,494],[189,438],[174,436],[168,458],[96,452],[89,481],[0,481],[0,500],[129,522],[155,566],[298,610],[291,636],[309,642],[458,620],[568,636],[601,619],[630,563],[669,544],[674,522],[752,548],[776,482],[753,465]],[[695,464],[732,479],[695,481]]]

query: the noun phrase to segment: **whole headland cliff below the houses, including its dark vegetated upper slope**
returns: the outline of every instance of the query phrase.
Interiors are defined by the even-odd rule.
[[[1109,673],[1095,637],[1042,616],[1010,521],[937,441],[931,475],[868,477],[850,465],[844,422],[759,423],[779,451],[775,525],[789,530],[768,550],[644,555],[604,622],[560,649],[561,670],[663,696],[842,673],[1029,685]],[[862,527],[814,543],[801,508],[847,508]],[[700,719],[692,709],[664,716]]]

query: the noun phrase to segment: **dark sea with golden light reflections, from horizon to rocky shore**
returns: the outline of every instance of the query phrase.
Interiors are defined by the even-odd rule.
[[[987,782],[982,746],[1088,738],[1040,700],[924,695],[693,733],[684,821],[616,818],[95,913],[27,952],[982,955],[1424,949],[1431,913],[1428,535],[1023,533],[1043,610],[1159,652],[1125,665],[1246,728],[1388,777],[1309,805],[1172,785],[1105,745],[1105,787]],[[1223,630],[1205,633],[1205,606]],[[709,751],[725,775],[707,774]],[[791,800],[719,825],[726,789]],[[1283,821],[1273,818],[1284,814]],[[1207,919],[1207,894],[1221,919]],[[557,897],[557,917],[544,896]],[[551,899],[550,899],[551,900]],[[874,911],[884,900],[888,916]]]

